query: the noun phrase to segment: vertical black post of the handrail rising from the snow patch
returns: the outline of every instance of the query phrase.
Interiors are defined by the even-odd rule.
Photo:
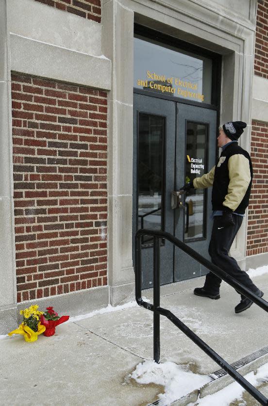
[[[160,306],[160,239],[153,237],[153,359],[160,361],[160,314],[155,310]]]

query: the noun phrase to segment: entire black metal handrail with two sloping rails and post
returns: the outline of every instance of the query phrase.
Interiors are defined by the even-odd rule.
[[[141,298],[141,237],[150,235],[153,237],[153,304],[145,302]],[[201,350],[211,357],[217,364],[231,375],[245,390],[247,390],[261,405],[268,406],[268,399],[241,374],[239,374],[230,364],[220,357],[212,348],[201,340],[192,330],[179,320],[171,311],[160,307],[160,239],[167,239],[193,259],[204,265],[209,271],[223,279],[238,292],[252,300],[260,308],[268,312],[268,302],[251,292],[244,285],[237,282],[232,276],[228,275],[218,266],[203,258],[200,254],[175,238],[172,234],[165,231],[156,231],[140,229],[135,234],[135,296],[139,306],[153,311],[153,359],[159,363],[160,360],[160,314],[166,316],[174,325],[176,325],[187,337],[189,337]]]

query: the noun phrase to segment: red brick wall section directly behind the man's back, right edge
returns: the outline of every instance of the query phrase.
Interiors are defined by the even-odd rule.
[[[268,252],[268,123],[252,121],[253,183],[249,205],[247,256]]]

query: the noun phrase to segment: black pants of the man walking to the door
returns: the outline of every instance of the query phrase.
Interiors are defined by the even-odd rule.
[[[233,214],[233,220],[234,226],[222,227],[220,224],[220,216],[214,217],[211,240],[208,248],[211,261],[252,292],[258,292],[257,286],[254,285],[248,274],[242,271],[236,260],[228,255],[234,237],[242,224],[243,217]],[[218,294],[221,280],[222,279],[218,276],[209,272],[206,276],[204,287],[209,292]]]

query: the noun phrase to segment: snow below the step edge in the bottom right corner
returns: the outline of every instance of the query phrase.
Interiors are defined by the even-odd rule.
[[[257,374],[254,375],[253,371],[245,376],[245,378],[254,386],[258,387],[264,382],[268,382],[268,363],[262,365],[257,370]],[[222,390],[214,393],[213,395],[207,395],[199,399],[194,404],[191,403],[188,406],[229,406],[234,400],[243,400],[244,389],[237,383],[233,382],[232,384],[226,386]]]

